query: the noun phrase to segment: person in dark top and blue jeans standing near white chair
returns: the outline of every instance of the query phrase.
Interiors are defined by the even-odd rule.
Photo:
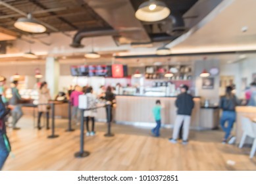
[[[232,93],[232,87],[226,87],[226,94],[220,98],[220,108],[222,109],[222,116],[220,118],[220,126],[225,132],[223,144],[227,141],[229,144],[233,144],[236,141],[236,137],[232,136],[230,133],[234,122],[236,122],[236,106],[238,105],[238,100],[236,95]],[[226,122],[228,125],[226,126]]]

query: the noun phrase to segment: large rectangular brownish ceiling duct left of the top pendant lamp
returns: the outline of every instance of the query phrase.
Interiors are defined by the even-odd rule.
[[[119,44],[148,43],[151,41],[141,22],[134,16],[135,10],[129,0],[84,1],[114,30],[119,32],[120,37],[115,37]],[[115,13],[113,13],[114,11]]]

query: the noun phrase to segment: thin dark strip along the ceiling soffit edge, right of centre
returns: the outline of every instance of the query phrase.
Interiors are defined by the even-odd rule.
[[[193,57],[200,55],[234,55],[234,54],[255,54],[256,50],[250,51],[223,51],[223,52],[207,52],[207,53],[180,53],[171,55],[130,55],[130,56],[115,56],[115,58],[159,58],[159,57]]]

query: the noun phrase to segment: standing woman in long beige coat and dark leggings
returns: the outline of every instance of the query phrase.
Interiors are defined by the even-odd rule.
[[[39,99],[38,99],[38,129],[41,129],[41,116],[46,113],[46,129],[49,127],[49,100],[51,99],[50,91],[47,88],[47,82],[43,81],[39,88]]]

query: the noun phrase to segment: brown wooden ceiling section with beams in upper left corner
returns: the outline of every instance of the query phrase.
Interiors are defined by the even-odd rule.
[[[3,2],[3,4],[1,4]],[[47,33],[52,32],[70,32],[81,30],[83,28],[109,28],[109,24],[98,16],[82,0],[6,0],[0,1],[0,26],[17,32],[19,34],[28,34],[14,28],[14,22],[24,17],[18,11],[31,12],[34,18],[49,24],[53,28],[47,28]]]

